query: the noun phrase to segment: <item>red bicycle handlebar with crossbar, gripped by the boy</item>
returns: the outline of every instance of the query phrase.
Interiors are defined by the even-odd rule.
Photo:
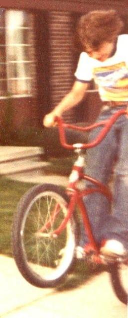
[[[93,148],[93,147],[97,146],[98,144],[100,144],[100,142],[105,138],[105,136],[107,135],[107,133],[109,132],[109,130],[111,129],[113,124],[117,121],[117,119],[121,115],[124,115],[124,114],[127,114],[127,111],[125,109],[121,109],[121,110],[117,111],[114,115],[112,115],[110,119],[104,120],[104,121],[101,121],[99,123],[95,123],[95,124],[92,124],[92,125],[86,126],[86,127],[78,127],[78,126],[75,126],[72,124],[67,124],[67,123],[63,122],[62,118],[56,117],[55,121],[57,122],[58,129],[59,129],[60,143],[64,148],[69,149],[69,150],[74,150],[76,148],[80,148],[80,149]],[[74,145],[67,144],[66,137],[65,137],[65,128],[70,128],[73,130],[87,132],[87,131],[90,131],[94,128],[100,127],[100,126],[101,127],[103,126],[101,132],[96,137],[96,139],[94,141],[92,141],[91,143],[74,144]]]

